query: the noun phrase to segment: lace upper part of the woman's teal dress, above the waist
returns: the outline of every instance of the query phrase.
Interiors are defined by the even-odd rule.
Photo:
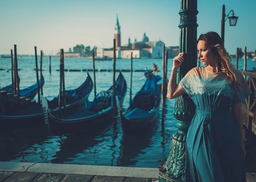
[[[180,85],[190,97],[194,94],[223,95],[229,97],[233,104],[243,101],[251,94],[250,88],[240,71],[236,71],[235,74],[239,90],[230,86],[226,74],[214,73],[205,67],[192,68],[180,81]]]

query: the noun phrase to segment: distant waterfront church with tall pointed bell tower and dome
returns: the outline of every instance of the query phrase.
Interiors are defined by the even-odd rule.
[[[116,14],[116,25],[114,27],[114,37],[116,39],[116,58],[131,58],[131,52],[134,58],[162,58],[163,57],[163,42],[162,41],[149,41],[146,33],[142,39],[137,41],[135,38],[134,43],[128,39],[128,44],[121,46],[121,26],[119,24],[118,16]],[[113,48],[97,48],[97,57],[113,57]]]

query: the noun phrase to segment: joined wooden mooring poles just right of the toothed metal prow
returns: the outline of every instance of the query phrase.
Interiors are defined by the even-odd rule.
[[[64,79],[64,49],[61,49],[61,57],[60,57],[60,91],[59,91],[59,104],[58,104],[59,111],[61,111],[62,88],[63,88],[64,112],[66,112],[66,92],[65,92],[65,79]]]

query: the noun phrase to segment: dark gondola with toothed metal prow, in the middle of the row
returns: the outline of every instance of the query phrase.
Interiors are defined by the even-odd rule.
[[[116,105],[120,107],[127,90],[127,83],[122,73],[116,79]],[[97,128],[113,120],[113,86],[107,91],[101,91],[94,100],[86,101],[86,108],[75,114],[55,115],[48,109],[47,102],[42,97],[43,108],[46,110],[49,128],[52,133],[73,132]]]

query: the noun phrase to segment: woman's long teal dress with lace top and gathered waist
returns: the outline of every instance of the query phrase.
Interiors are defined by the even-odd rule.
[[[246,80],[235,70],[239,90],[224,73],[205,67],[190,70],[180,81],[195,102],[196,112],[186,139],[186,182],[245,182],[239,128],[230,107],[251,94]]]

